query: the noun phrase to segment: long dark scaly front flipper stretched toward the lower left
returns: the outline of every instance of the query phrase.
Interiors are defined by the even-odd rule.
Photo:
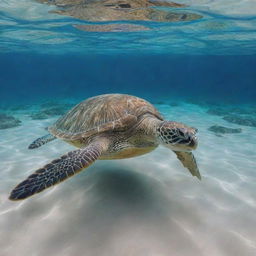
[[[91,165],[106,149],[102,142],[71,151],[38,169],[18,184],[11,192],[10,200],[21,200],[58,184]]]

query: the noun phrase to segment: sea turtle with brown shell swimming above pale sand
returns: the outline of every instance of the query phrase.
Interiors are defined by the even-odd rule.
[[[78,147],[38,169],[17,185],[11,200],[25,199],[60,183],[97,159],[122,159],[151,152],[160,144],[173,150],[193,176],[201,179],[192,150],[197,147],[196,128],[165,121],[144,99],[125,94],[105,94],[82,101],[29,148],[55,138]]]

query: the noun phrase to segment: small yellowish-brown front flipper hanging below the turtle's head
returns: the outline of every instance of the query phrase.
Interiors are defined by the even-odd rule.
[[[199,180],[201,180],[201,175],[193,153],[182,151],[173,152],[177,155],[178,159],[182,162],[183,166],[188,168],[188,170],[193,176],[196,176]]]

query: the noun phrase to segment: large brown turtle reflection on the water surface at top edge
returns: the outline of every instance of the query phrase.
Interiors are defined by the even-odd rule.
[[[153,0],[38,0],[56,5],[54,13],[87,21],[191,21],[202,16],[188,12],[173,12],[154,7],[185,7],[183,4]],[[104,26],[104,25],[102,25]]]

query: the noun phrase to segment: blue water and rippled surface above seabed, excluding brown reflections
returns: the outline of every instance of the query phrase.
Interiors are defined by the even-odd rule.
[[[179,2],[189,6],[176,12],[202,19],[130,21],[151,30],[95,33],[74,27],[91,22],[50,13],[53,6],[1,1],[0,102],[121,92],[150,100],[254,103],[256,2]]]

